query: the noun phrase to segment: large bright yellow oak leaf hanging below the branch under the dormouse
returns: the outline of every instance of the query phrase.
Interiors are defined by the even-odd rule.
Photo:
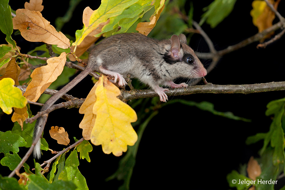
[[[117,98],[120,90],[102,75],[97,82],[95,94],[97,100],[93,106],[96,115],[91,132],[91,142],[102,145],[103,152],[121,156],[127,151],[127,145],[133,146],[138,136],[131,122],[137,120],[136,112]]]

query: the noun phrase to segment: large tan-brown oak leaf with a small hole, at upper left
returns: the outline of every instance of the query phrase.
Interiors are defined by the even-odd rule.
[[[13,18],[13,26],[30,42],[44,42],[63,49],[70,47],[69,39],[62,32],[57,32],[38,11],[18,9]]]

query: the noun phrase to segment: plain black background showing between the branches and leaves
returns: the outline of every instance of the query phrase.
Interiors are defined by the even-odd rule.
[[[89,6],[95,10],[99,1],[83,0],[74,12],[72,21],[64,26],[62,32],[75,36],[75,31],[82,28],[82,12]],[[10,1],[11,8],[24,8],[25,1],[17,4]],[[59,4],[60,3],[60,4]],[[211,1],[194,1],[194,20],[200,21],[203,7]],[[258,32],[252,24],[249,12],[252,1],[237,1],[233,12],[216,28],[203,24],[203,30],[213,41],[216,50],[222,50],[234,45]],[[42,15],[54,25],[56,17],[63,16],[68,7],[68,1],[43,2]],[[189,7],[189,3],[185,6]],[[281,1],[278,11],[284,15],[284,2]],[[278,19],[274,20],[274,23]],[[175,28],[173,28],[175,30]],[[4,39],[1,38],[1,39]],[[25,41],[21,36],[13,36],[21,53],[27,53],[41,43]],[[5,43],[5,42],[3,42]],[[240,50],[225,55],[205,78],[213,84],[254,84],[272,81],[284,81],[284,37],[270,44],[266,49],[257,49],[257,42]],[[199,52],[209,52],[203,38],[194,34],[190,46]],[[209,60],[202,61],[205,65]],[[85,98],[92,87],[90,77],[87,77],[69,94]],[[245,140],[257,132],[268,132],[270,117],[265,116],[266,105],[275,99],[284,98],[283,91],[243,94],[194,94],[189,96],[170,97],[172,99],[188,99],[197,102],[209,101],[217,111],[233,112],[234,115],[251,119],[243,122],[215,116],[201,111],[196,107],[174,104],[159,111],[148,124],[137,154],[136,165],[131,178],[130,189],[176,188],[176,189],[229,189],[226,175],[240,164],[248,162],[250,156],[258,157],[262,142],[247,146]],[[38,106],[31,105],[33,114]],[[49,138],[50,126],[64,127],[70,136],[80,139],[82,130],[78,128],[83,115],[78,109],[56,110],[49,115],[45,136],[53,150],[62,150],[64,146]],[[3,124],[4,123],[4,124]],[[1,131],[11,130],[13,123],[11,115],[1,118]],[[54,144],[53,144],[54,142]],[[26,149],[21,148],[19,155],[23,157]],[[3,156],[3,155],[2,155]],[[104,180],[113,174],[120,158],[105,155],[101,146],[93,146],[89,153],[91,162],[80,161],[78,166],[87,181],[89,189],[117,189],[121,181]],[[44,152],[44,159],[52,155]],[[42,163],[41,159],[39,163]],[[33,166],[32,160],[28,163]],[[0,166],[1,175],[9,175],[7,167]],[[278,181],[276,189],[283,187],[284,180]]]

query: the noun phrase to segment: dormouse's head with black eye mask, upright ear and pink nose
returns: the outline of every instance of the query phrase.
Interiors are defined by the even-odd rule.
[[[170,38],[171,48],[168,54],[168,63],[177,64],[175,67],[180,72],[185,72],[185,76],[191,78],[200,78],[207,74],[206,69],[196,56],[192,48],[186,43],[186,36],[184,34],[172,35]],[[174,66],[174,65],[173,65]]]

